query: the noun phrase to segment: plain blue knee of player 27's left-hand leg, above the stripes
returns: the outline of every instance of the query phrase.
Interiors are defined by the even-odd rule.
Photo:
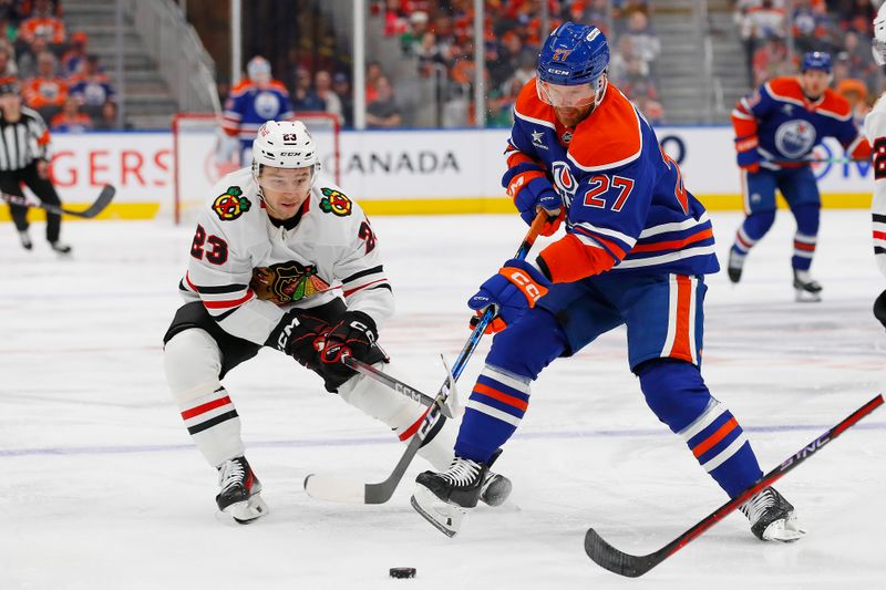
[[[495,334],[486,364],[535,380],[566,349],[566,334],[553,313],[533,308]]]

